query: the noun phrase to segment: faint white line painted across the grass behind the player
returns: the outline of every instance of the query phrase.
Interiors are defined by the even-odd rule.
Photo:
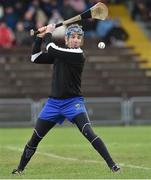
[[[18,152],[22,152],[23,149],[21,148],[16,148],[13,146],[3,146],[3,148],[9,149],[9,150],[13,150],[13,151],[18,151]],[[58,156],[56,154],[52,154],[52,153],[45,153],[45,152],[36,152],[37,154],[43,155],[43,156],[47,156],[47,157],[52,157],[52,158],[56,158],[56,159],[60,159],[60,160],[67,160],[67,161],[79,161],[79,162],[84,162],[84,163],[102,163],[101,161],[96,161],[96,160],[81,160],[81,159],[77,159],[77,158],[70,158],[70,157],[63,157],[63,156]],[[150,167],[143,167],[143,166],[136,166],[136,165],[132,165],[132,164],[125,164],[125,163],[120,163],[119,164],[121,167],[127,167],[127,168],[132,168],[132,169],[142,169],[142,170],[149,170],[151,171]]]

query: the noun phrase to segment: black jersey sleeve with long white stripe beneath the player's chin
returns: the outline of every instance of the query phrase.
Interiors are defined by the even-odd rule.
[[[47,33],[45,36],[46,49],[50,56],[57,58],[60,61],[66,61],[67,63],[77,64],[84,60],[83,50],[81,48],[70,49],[58,47],[51,41],[51,34]]]

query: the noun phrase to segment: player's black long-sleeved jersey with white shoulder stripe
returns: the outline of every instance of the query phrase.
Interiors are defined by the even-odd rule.
[[[81,75],[84,67],[82,49],[69,49],[56,46],[51,33],[45,35],[47,52],[41,51],[42,39],[36,38],[31,61],[39,64],[53,64],[50,96],[69,98],[81,96]]]

